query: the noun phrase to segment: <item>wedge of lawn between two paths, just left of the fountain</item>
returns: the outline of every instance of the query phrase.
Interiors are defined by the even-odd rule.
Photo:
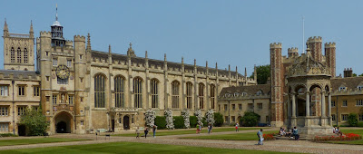
[[[276,131],[264,131],[264,134],[276,133]],[[256,132],[223,134],[223,135],[210,135],[210,136],[196,136],[184,137],[182,139],[197,139],[197,140],[259,140]]]

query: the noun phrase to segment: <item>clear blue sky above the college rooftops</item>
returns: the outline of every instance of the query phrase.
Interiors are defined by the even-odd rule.
[[[253,65],[270,64],[270,43],[282,43],[302,53],[304,41],[321,36],[323,43],[337,43],[337,75],[344,68],[363,73],[363,1],[323,0],[4,0],[0,1],[0,26],[5,18],[9,33],[28,34],[33,21],[34,35],[50,31],[55,21],[64,26],[64,38],[91,34],[92,49],[126,54],[129,43],[137,56],[171,62],[228,68],[248,75]],[[4,69],[4,39],[0,69]],[[35,47],[34,47],[35,48]],[[324,47],[323,47],[324,48]],[[324,52],[323,52],[324,54]]]

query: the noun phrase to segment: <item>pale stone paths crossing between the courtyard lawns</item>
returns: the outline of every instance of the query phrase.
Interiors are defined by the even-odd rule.
[[[265,131],[276,129],[265,129]],[[115,137],[112,136],[105,138],[104,136],[96,136],[94,134],[76,135],[76,134],[57,134],[52,138],[77,138],[88,139],[86,141],[73,141],[73,142],[61,142],[61,143],[44,143],[44,144],[32,144],[21,146],[4,146],[0,147],[0,150],[4,149],[30,149],[30,148],[43,148],[54,146],[68,146],[68,145],[84,145],[84,144],[97,144],[106,142],[117,141],[129,141],[129,142],[142,142],[142,143],[154,143],[154,144],[171,144],[171,145],[183,145],[194,147],[211,147],[222,149],[255,149],[255,150],[271,150],[280,152],[299,152],[299,153],[363,153],[362,145],[345,145],[345,144],[329,144],[329,143],[316,143],[307,140],[273,140],[264,141],[263,146],[256,145],[257,140],[189,140],[179,139],[180,137],[189,136],[204,136],[204,135],[220,135],[220,134],[233,134],[233,133],[245,133],[256,132],[257,130],[240,130],[214,132],[212,134],[185,134],[185,135],[171,135],[160,136],[156,138],[148,137],[147,139],[134,137]],[[23,137],[18,137],[19,139]],[[0,151],[1,152],[1,151]]]

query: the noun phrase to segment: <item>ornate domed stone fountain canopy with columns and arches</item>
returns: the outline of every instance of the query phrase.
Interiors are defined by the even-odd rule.
[[[299,57],[288,69],[288,125],[299,133],[313,136],[331,133],[331,100],[329,68],[307,54]]]

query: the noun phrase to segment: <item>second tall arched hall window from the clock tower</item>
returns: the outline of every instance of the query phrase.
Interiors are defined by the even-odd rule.
[[[124,107],[124,78],[122,76],[114,78],[114,106],[116,108]]]

